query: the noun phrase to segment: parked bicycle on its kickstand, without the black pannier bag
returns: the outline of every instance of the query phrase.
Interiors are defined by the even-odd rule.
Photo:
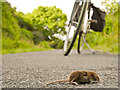
[[[90,23],[97,23],[97,20],[90,20],[90,11],[92,6],[93,4],[90,0],[75,1],[63,47],[65,56],[70,53],[78,34],[79,38],[77,52],[80,53],[83,49],[84,43],[86,43],[92,53],[95,54],[85,40],[87,33],[90,31]],[[76,27],[75,31],[73,32],[73,36],[70,36],[71,26]]]

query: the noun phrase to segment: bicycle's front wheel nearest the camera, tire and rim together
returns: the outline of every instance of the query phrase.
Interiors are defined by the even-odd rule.
[[[76,26],[76,30],[74,31],[74,34],[73,34],[72,38],[69,38],[72,23],[70,23],[70,25],[69,25],[69,29],[67,31],[67,36],[66,36],[66,39],[65,39],[65,42],[64,42],[64,48],[63,48],[65,56],[67,56],[70,53],[70,51],[71,51],[71,49],[72,49],[72,47],[74,45],[74,42],[75,42],[75,40],[77,38],[77,35],[78,35],[78,32],[79,32],[80,27],[82,25],[82,22],[84,20],[84,15],[85,15],[85,12],[86,12],[86,10],[88,8],[88,4],[89,4],[89,2],[82,2],[81,12],[80,12],[78,24]]]

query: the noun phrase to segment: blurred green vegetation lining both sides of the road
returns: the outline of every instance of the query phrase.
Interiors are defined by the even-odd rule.
[[[103,32],[92,32],[87,41],[95,50],[118,53],[118,3],[102,4],[107,10]],[[67,15],[61,9],[39,6],[32,13],[23,14],[2,2],[2,54],[62,49],[63,41],[56,35],[66,34]],[[75,44],[76,46],[76,44]],[[85,47],[87,48],[87,47]]]

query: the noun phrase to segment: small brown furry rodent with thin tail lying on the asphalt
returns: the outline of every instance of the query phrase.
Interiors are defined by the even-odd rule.
[[[48,83],[47,85],[57,82],[69,82],[71,84],[78,85],[80,83],[94,83],[100,82],[98,75],[94,71],[74,71],[68,77],[68,80],[59,80]]]

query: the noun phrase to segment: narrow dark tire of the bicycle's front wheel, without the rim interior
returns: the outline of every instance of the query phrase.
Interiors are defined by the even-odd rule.
[[[80,13],[80,16],[79,16],[76,32],[75,32],[75,34],[73,36],[73,39],[72,39],[72,42],[70,43],[70,46],[68,46],[68,49],[65,51],[64,56],[67,56],[70,53],[70,51],[71,51],[71,49],[72,49],[72,47],[74,45],[74,42],[75,42],[75,40],[77,38],[77,34],[79,32],[79,29],[81,27],[81,24],[82,24],[82,21],[83,21],[83,18],[84,18],[84,14],[85,14],[85,11],[86,11],[87,4],[88,4],[88,2],[83,2],[83,6],[82,6],[82,10],[81,10],[81,13]]]

